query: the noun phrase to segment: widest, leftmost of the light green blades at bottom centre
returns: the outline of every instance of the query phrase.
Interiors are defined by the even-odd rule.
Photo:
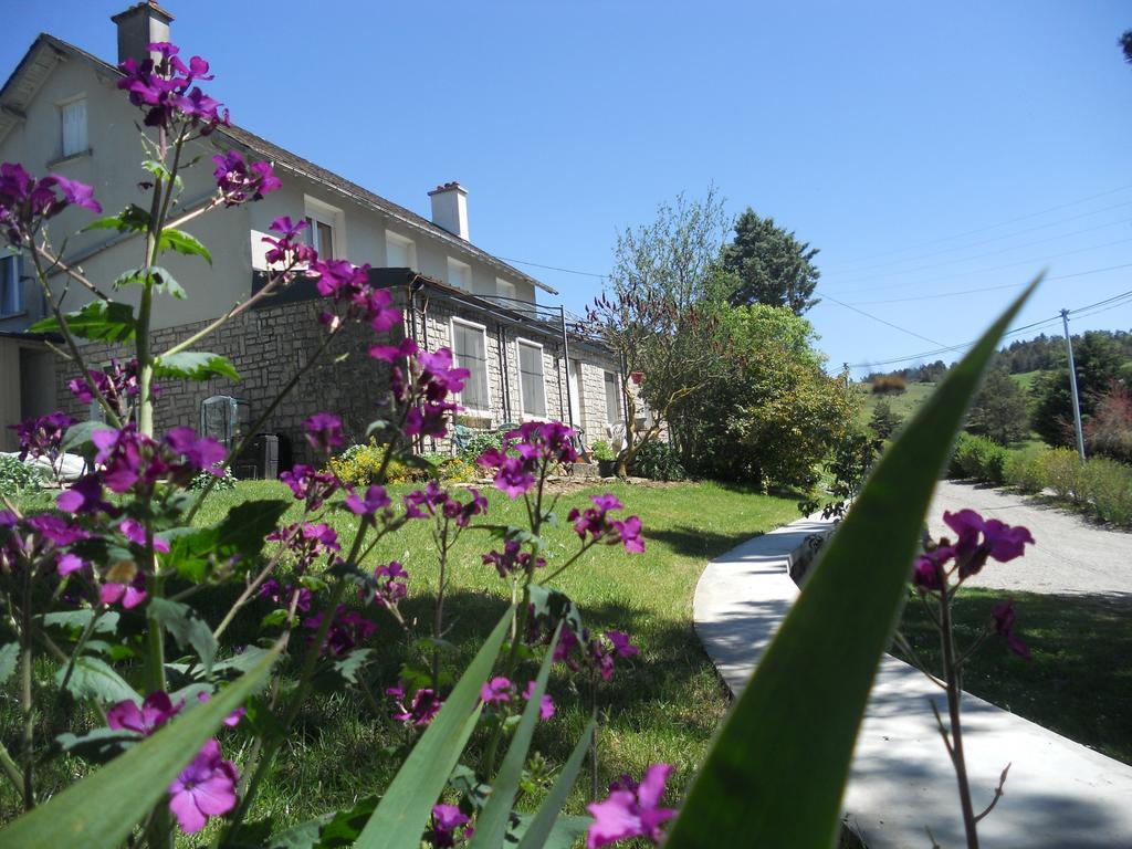
[[[512,604],[413,746],[358,837],[355,849],[419,849],[432,805],[475,729],[481,710],[480,687],[491,674],[514,612]]]

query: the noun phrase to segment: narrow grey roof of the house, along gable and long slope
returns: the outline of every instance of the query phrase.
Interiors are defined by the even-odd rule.
[[[8,131],[18,121],[23,120],[27,105],[35,96],[40,84],[54,68],[55,61],[61,58],[66,58],[68,54],[78,57],[79,59],[89,62],[96,70],[103,74],[113,75],[113,77],[121,76],[121,71],[119,71],[113,65],[98,59],[92,53],[87,53],[82,48],[69,44],[68,42],[57,38],[53,35],[41,33],[32,46],[28,48],[27,53],[24,54],[19,65],[16,66],[11,76],[8,77],[3,87],[0,88],[0,140],[3,139]],[[274,164],[282,166],[285,170],[321,183],[333,191],[352,199],[354,203],[383,213],[402,225],[417,230],[429,238],[441,241],[454,251],[465,256],[471,256],[473,259],[478,259],[482,263],[487,263],[497,271],[503,272],[508,276],[517,277],[521,281],[525,281],[534,286],[538,286],[544,292],[558,294],[558,290],[555,288],[518,271],[498,257],[495,257],[486,250],[475,247],[471,242],[461,239],[458,235],[449,233],[447,230],[434,224],[428,218],[418,215],[398,204],[394,204],[392,200],[387,200],[380,195],[376,195],[369,189],[346,180],[344,177],[340,177],[332,171],[327,171],[326,169],[316,165],[314,162],[305,160],[301,156],[280,147],[278,145],[272,144],[267,139],[260,138],[242,127],[221,127],[217,128],[216,134],[226,136],[235,144],[250,151],[255,151],[260,156],[271,160]]]

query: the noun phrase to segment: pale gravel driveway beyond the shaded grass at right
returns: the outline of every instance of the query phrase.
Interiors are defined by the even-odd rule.
[[[987,518],[1024,525],[1036,542],[1027,548],[1026,557],[988,564],[971,580],[974,586],[1099,594],[1132,606],[1132,533],[1106,530],[1014,492],[941,481],[927,514],[932,534],[954,537],[943,523],[943,512],[963,507]]]

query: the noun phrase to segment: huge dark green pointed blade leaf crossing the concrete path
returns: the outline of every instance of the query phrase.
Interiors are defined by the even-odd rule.
[[[834,844],[857,729],[932,492],[998,338],[1037,283],[877,463],[715,737],[667,849]]]

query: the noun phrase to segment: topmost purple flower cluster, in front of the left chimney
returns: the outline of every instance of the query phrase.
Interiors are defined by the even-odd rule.
[[[170,129],[183,121],[199,128],[207,136],[217,126],[228,127],[228,110],[218,101],[209,97],[192,85],[197,80],[211,80],[208,62],[198,55],[186,65],[178,55],[180,48],[169,42],[154,42],[149,50],[161,54],[161,59],[134,58],[119,63],[122,78],[118,87],[129,92],[130,103],[145,112],[146,127]]]

